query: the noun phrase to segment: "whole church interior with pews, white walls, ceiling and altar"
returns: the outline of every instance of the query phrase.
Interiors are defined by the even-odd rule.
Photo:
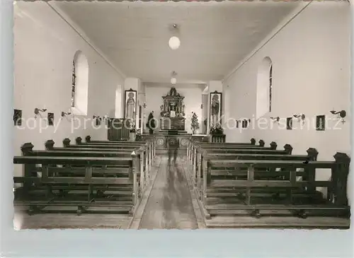
[[[15,1],[18,229],[350,228],[347,1]]]

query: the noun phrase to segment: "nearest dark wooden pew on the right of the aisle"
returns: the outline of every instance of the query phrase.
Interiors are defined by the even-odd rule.
[[[291,211],[301,218],[307,216],[332,216],[348,218],[350,207],[346,195],[346,185],[349,172],[350,158],[345,153],[336,153],[335,161],[308,161],[301,160],[203,160],[203,180],[202,185],[202,204],[205,217],[210,218],[214,215],[236,215],[240,211],[251,211],[252,216],[261,217],[261,211]],[[213,179],[213,168],[234,166],[243,175],[241,168],[246,168],[246,180],[215,180]],[[287,180],[256,180],[258,168],[265,170],[275,170],[284,168],[287,173]],[[330,181],[315,180],[316,169],[330,169]],[[297,171],[302,169],[302,172]],[[266,173],[267,171],[265,171]],[[297,181],[300,174],[308,174],[307,180]],[[244,204],[207,204],[207,192],[212,187],[236,187],[244,189]],[[302,189],[304,193],[312,194],[316,187],[327,188],[327,198],[315,203],[301,204],[296,201],[297,189]],[[263,203],[253,203],[251,192],[254,189],[282,188],[287,189],[287,199],[282,203],[274,203],[269,199],[263,199]],[[236,198],[236,197],[235,197]],[[264,201],[265,200],[265,201]],[[309,225],[311,227],[311,225]]]

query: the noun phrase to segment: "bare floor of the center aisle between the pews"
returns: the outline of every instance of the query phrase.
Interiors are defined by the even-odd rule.
[[[139,229],[198,228],[182,162],[178,157],[176,165],[169,165],[167,157],[161,156]]]

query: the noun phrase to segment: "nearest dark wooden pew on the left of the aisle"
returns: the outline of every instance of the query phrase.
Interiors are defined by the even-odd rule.
[[[57,206],[61,212],[63,207],[77,207],[78,215],[91,209],[104,213],[109,209],[132,214],[139,204],[135,154],[130,158],[15,156],[13,163],[25,167],[23,177],[13,177],[15,183],[23,183],[22,194],[19,194],[19,200],[15,200],[15,205],[18,201],[21,205],[25,202],[30,206],[30,213]],[[127,168],[108,170],[106,165]],[[102,199],[99,190],[107,188],[118,197]],[[70,194],[70,191],[79,190],[84,191],[84,198],[82,194]],[[31,199],[30,193],[38,191],[40,194],[37,198]],[[96,194],[93,194],[94,191]],[[120,198],[121,194],[127,195],[127,192],[128,198]]]

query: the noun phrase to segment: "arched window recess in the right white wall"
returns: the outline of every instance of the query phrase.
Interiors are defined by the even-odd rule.
[[[265,57],[258,67],[256,117],[272,111],[273,64]]]

